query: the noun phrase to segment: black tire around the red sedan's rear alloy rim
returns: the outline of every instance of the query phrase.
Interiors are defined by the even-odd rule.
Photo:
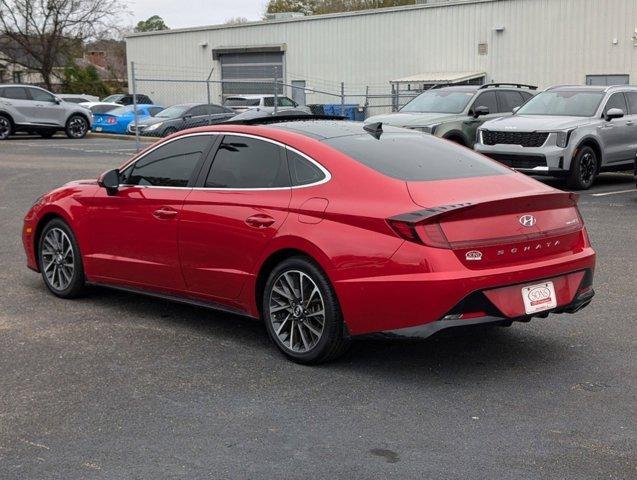
[[[305,297],[306,299],[309,297],[309,300],[307,302],[308,305],[305,306],[308,309],[307,311],[310,311],[310,313],[307,313],[306,311],[308,316],[305,317],[304,314],[301,314],[298,319],[295,319],[291,313],[294,309],[293,307],[291,307],[289,311],[284,310],[281,313],[281,316],[287,315],[288,318],[292,316],[291,320],[288,320],[288,326],[292,332],[297,332],[296,336],[298,337],[297,341],[299,348],[304,348],[303,344],[306,343],[306,337],[311,340],[311,347],[305,349],[305,351],[299,351],[293,348],[294,345],[292,342],[294,340],[294,333],[290,333],[287,339],[284,338],[286,332],[282,331],[282,325],[285,321],[282,321],[281,317],[277,320],[276,314],[278,312],[271,311],[270,304],[272,302],[279,302],[280,298],[283,298],[274,290],[274,287],[275,285],[280,285],[278,282],[286,273],[289,275],[302,273],[306,276],[304,277],[306,288]],[[311,282],[307,281],[308,278]],[[303,285],[303,281],[301,281],[301,284]],[[310,320],[310,318],[316,318],[312,317],[312,315],[316,316],[316,313],[311,313],[311,309],[314,308],[315,305],[311,306],[309,303],[314,303],[313,298],[316,299],[317,297],[310,296],[307,290],[307,288],[313,290],[314,286],[318,289],[318,294],[320,294],[320,298],[318,300],[322,303],[324,311],[324,315],[322,316],[322,331],[319,336],[313,335],[312,331],[309,330],[310,325],[312,325],[311,328],[316,328],[318,323],[308,323],[316,322],[314,319]],[[287,291],[287,293],[289,293],[289,291]],[[303,294],[295,296],[298,299],[299,297],[302,297]],[[275,299],[273,300],[271,297],[274,297]],[[296,303],[295,307],[298,309],[302,303],[303,302]],[[302,310],[305,311],[305,308],[302,308]],[[341,314],[341,309],[334,289],[332,288],[327,275],[325,275],[325,273],[307,257],[298,256],[288,258],[279,263],[272,272],[270,272],[263,292],[262,312],[268,335],[270,335],[270,338],[279,350],[296,363],[315,365],[334,360],[338,356],[342,355],[349,346],[349,337],[345,329],[343,316]],[[305,322],[305,324],[303,322]],[[281,333],[277,333],[275,330],[275,324],[277,324],[277,330]],[[303,334],[303,331],[305,334]],[[289,344],[287,343],[288,340]]]

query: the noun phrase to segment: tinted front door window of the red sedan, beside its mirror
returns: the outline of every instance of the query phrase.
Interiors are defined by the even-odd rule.
[[[124,170],[121,183],[187,187],[211,139],[210,135],[196,135],[162,145]]]

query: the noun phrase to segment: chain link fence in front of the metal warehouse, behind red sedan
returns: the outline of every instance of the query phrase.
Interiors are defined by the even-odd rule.
[[[186,128],[227,121],[238,114],[245,116],[245,112],[256,109],[339,115],[362,121],[397,111],[420,93],[399,91],[389,83],[348,85],[320,79],[286,83],[282,75],[271,80],[222,80],[215,77],[214,69],[137,63],[130,67],[130,105],[114,111],[120,118],[112,118],[114,115],[108,112],[95,115],[94,128],[135,135],[138,148],[144,137],[165,137]]]

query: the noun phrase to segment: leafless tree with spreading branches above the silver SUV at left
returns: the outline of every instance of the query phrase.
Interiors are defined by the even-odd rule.
[[[111,35],[124,12],[121,0],[0,0],[0,52],[51,88],[54,68],[83,42]]]

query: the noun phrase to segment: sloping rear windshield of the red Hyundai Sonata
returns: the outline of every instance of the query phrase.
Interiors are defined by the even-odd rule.
[[[417,133],[336,137],[327,145],[388,177],[405,181],[485,177],[510,172],[468,148]]]

